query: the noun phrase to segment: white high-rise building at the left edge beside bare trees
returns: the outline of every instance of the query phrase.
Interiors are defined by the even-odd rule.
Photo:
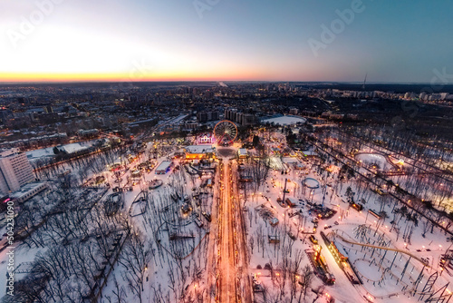
[[[0,152],[0,191],[6,195],[30,181],[34,181],[33,168],[24,152],[19,149]]]

